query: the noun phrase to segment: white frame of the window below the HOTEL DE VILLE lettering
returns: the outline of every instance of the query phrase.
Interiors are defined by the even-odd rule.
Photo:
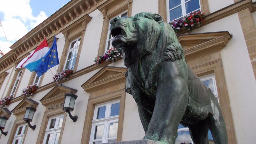
[[[45,130],[45,135],[44,135],[43,144],[46,143],[47,135],[48,135],[48,134],[53,134],[51,143],[52,143],[52,144],[55,143],[55,141],[56,141],[56,136],[57,136],[58,133],[60,133],[61,127],[62,127],[62,125],[63,125],[63,121],[62,121],[62,125],[61,125],[60,127],[58,127],[61,117],[63,117],[63,120],[64,120],[64,115],[57,115],[57,116],[53,116],[53,117],[50,117],[50,118],[49,118],[48,124],[47,124],[47,127],[46,127],[46,130]],[[55,121],[55,124],[54,124],[54,128],[49,129],[49,126],[50,126],[50,124],[51,124],[51,120],[52,120],[52,119],[55,119],[55,118],[56,118],[56,121]],[[59,140],[60,140],[60,139],[58,139],[58,141],[59,141]]]

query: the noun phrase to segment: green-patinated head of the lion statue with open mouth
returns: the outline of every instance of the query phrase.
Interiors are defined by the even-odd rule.
[[[134,17],[111,20],[112,46],[124,52],[129,67],[144,55],[161,57],[166,46],[178,43],[170,25],[159,14],[137,13]]]

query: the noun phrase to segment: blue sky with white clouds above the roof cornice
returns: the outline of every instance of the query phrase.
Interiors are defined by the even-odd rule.
[[[70,0],[0,0],[0,49],[7,53],[22,38]],[[2,26],[2,27],[1,27]],[[6,38],[8,40],[6,40]]]

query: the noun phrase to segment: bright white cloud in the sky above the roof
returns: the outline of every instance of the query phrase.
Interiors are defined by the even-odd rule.
[[[6,42],[3,30],[0,28],[0,45],[5,52],[10,50],[9,47],[14,42],[47,18],[43,11],[34,17],[29,2],[30,0],[1,1],[0,12],[4,14],[4,19],[1,20],[2,27],[10,44]]]

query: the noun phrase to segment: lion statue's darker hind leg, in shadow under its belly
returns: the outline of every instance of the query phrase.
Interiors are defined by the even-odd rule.
[[[209,128],[205,120],[200,120],[196,124],[189,125],[188,128],[194,144],[209,144],[208,143]]]

